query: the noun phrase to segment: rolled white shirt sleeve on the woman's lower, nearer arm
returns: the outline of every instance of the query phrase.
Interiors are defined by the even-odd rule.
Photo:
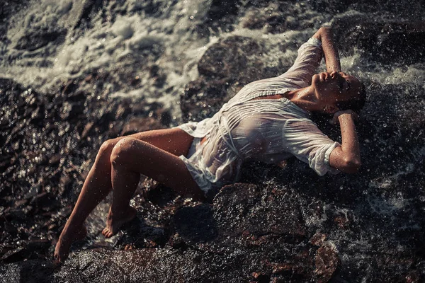
[[[307,163],[318,175],[339,173],[329,166],[329,156],[341,144],[329,139],[312,120],[287,120],[283,126],[283,144],[285,151]]]

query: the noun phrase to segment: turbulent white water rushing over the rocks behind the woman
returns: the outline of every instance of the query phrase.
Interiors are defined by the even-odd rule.
[[[212,3],[214,2],[214,3]],[[197,62],[210,45],[231,35],[251,37],[266,44],[268,67],[279,60],[293,62],[300,45],[321,25],[331,25],[338,17],[367,13],[348,10],[334,16],[314,11],[309,2],[283,2],[248,6],[234,13],[234,4],[217,1],[108,1],[87,11],[85,1],[28,1],[8,18],[4,40],[0,42],[1,76],[13,78],[24,86],[47,91],[68,79],[89,74],[94,69],[112,74],[106,89],[111,96],[130,96],[159,101],[181,121],[179,94],[189,81],[198,77]],[[307,4],[307,5],[306,5]],[[13,3],[6,3],[13,5]],[[228,6],[213,15],[211,10]],[[279,18],[279,5],[302,14]],[[323,4],[325,6],[325,4]],[[281,7],[280,7],[281,8]],[[273,16],[296,30],[253,23],[256,17]],[[295,16],[302,17],[302,25]],[[230,20],[227,20],[227,18]],[[380,16],[384,17],[384,16]],[[378,17],[377,17],[378,18]],[[228,21],[221,25],[220,21]],[[399,19],[401,20],[401,19]],[[4,23],[5,24],[5,23]],[[275,23],[276,24],[276,23]],[[35,40],[34,42],[31,40]],[[294,44],[290,44],[293,43]],[[379,83],[424,81],[425,72],[414,66],[404,68],[370,66],[358,54],[344,57],[344,71]],[[155,86],[149,67],[156,65],[164,75],[164,85]],[[282,70],[285,71],[285,70]],[[137,88],[123,76],[140,78]],[[425,86],[425,85],[424,85]]]

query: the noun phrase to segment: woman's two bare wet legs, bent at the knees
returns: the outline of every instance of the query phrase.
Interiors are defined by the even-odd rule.
[[[130,199],[140,174],[171,187],[180,195],[203,200],[204,194],[179,158],[188,153],[193,137],[182,129],[155,129],[105,141],[87,175],[71,216],[55,247],[55,260],[63,262],[72,242],[86,236],[84,221],[113,189],[113,201],[102,233],[113,236],[135,217]]]

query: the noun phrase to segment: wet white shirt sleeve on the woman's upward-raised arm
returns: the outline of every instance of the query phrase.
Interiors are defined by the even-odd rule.
[[[298,49],[298,56],[293,66],[280,76],[293,81],[300,81],[300,83],[303,83],[302,87],[310,86],[312,76],[322,60],[322,53],[322,42],[311,37]]]

